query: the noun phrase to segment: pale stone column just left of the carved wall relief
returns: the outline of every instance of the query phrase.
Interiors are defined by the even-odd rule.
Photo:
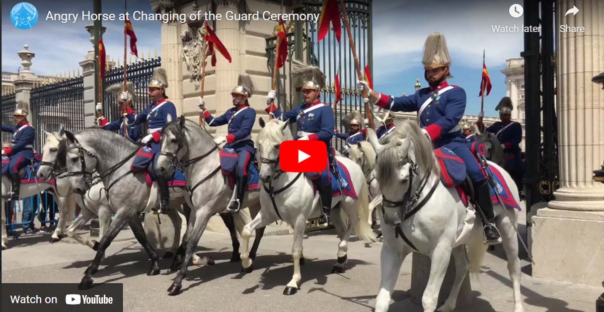
[[[172,1],[152,1],[151,9],[156,13],[176,13]],[[181,23],[161,22],[161,67],[168,76],[168,88],[165,94],[176,106],[176,115],[182,110],[182,43]],[[148,103],[147,103],[148,104]]]

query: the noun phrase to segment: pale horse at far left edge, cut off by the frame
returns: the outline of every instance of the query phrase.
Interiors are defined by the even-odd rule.
[[[5,215],[5,207],[4,202],[8,199],[8,193],[10,193],[11,183],[10,178],[8,176],[2,175],[2,250],[7,249],[7,234],[6,234],[6,215]],[[37,183],[21,183],[21,189],[19,191],[19,196],[21,199],[34,196],[40,194],[40,192],[50,190],[54,195],[56,194],[67,194],[69,191],[69,187],[65,185],[55,185],[52,182],[37,182]],[[59,197],[55,196],[55,201],[57,202],[57,206],[59,206],[60,211],[65,211],[65,214],[71,212],[71,215],[74,214],[76,210],[76,201],[73,197]],[[65,222],[67,218],[61,217],[59,219],[59,224],[63,224],[65,226]],[[57,226],[58,228],[59,226]]]

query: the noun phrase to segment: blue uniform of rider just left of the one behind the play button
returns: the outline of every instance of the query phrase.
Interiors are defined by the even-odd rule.
[[[256,120],[256,111],[249,106],[237,106],[214,118],[207,110],[205,122],[210,127],[228,124],[225,148],[233,148],[237,153],[237,176],[246,176],[249,163],[254,158],[255,149],[252,141],[252,127]]]

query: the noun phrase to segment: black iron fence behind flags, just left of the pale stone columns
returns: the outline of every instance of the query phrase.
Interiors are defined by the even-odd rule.
[[[129,64],[126,69],[126,80],[131,81],[135,89],[138,100],[134,103],[134,111],[142,112],[151,103],[149,94],[147,94],[147,86],[151,82],[153,69],[161,66],[161,57],[157,59],[149,59],[143,62]],[[112,84],[123,83],[124,81],[124,66],[120,66],[111,71],[106,72],[103,79],[103,90],[107,89]],[[121,118],[121,107],[117,103],[117,96],[108,92],[103,96],[103,116],[109,122]]]

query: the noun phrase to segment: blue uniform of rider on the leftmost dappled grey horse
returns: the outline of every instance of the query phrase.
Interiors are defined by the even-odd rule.
[[[128,118],[132,115],[134,114],[129,113]],[[161,129],[167,123],[176,119],[176,107],[172,102],[162,98],[155,103],[149,104],[143,112],[133,116],[133,119],[134,124],[132,126],[147,122],[147,133],[153,135],[153,139],[138,151],[138,154],[132,163],[132,170],[145,170],[151,161],[153,161],[153,167],[155,168],[159,151],[161,150],[161,144],[159,144]]]

